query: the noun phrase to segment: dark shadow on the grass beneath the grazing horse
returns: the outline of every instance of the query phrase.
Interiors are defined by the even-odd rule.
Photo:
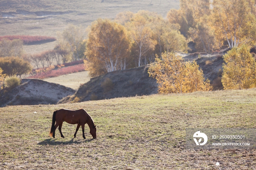
[[[91,142],[93,139],[86,139],[86,140],[78,140],[74,141],[74,138],[72,138],[70,141],[56,141],[56,139],[45,139],[42,142],[37,143],[38,145],[47,146],[47,145],[69,145],[69,144],[80,144],[80,143],[87,143]]]

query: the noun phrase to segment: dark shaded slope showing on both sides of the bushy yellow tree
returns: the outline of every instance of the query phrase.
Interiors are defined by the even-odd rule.
[[[214,90],[222,89],[221,78],[218,77],[219,70],[222,70],[225,50],[214,54],[193,53],[184,55],[185,61],[195,60],[203,70],[204,77],[211,81]],[[106,75],[91,78],[91,80],[80,86],[78,91],[64,98],[59,103],[81,102],[88,100],[102,100],[116,97],[142,96],[158,93],[158,84],[154,78],[148,77],[148,67],[150,65],[118,70]],[[109,79],[110,85],[104,82]],[[110,87],[109,87],[110,86]]]

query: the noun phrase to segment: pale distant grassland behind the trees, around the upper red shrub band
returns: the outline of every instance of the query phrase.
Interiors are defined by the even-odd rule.
[[[123,11],[148,10],[166,17],[171,8],[179,8],[179,0],[1,0],[0,36],[44,35],[56,37],[67,24],[84,29],[98,18],[113,19]],[[57,41],[25,46],[27,53],[51,50]]]

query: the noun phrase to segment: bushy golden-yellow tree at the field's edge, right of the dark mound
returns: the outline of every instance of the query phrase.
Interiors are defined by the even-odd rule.
[[[176,53],[165,52],[162,59],[148,69],[148,74],[157,80],[159,93],[190,93],[212,90],[210,81],[204,81],[203,71],[197,63],[185,62]]]

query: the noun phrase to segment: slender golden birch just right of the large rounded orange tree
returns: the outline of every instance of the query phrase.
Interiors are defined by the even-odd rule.
[[[144,59],[146,64],[146,54],[148,51],[153,51],[157,41],[153,38],[153,31],[150,28],[150,16],[146,12],[136,13],[131,22],[127,23],[129,35],[133,40],[132,51],[136,55],[138,65],[143,65]]]

